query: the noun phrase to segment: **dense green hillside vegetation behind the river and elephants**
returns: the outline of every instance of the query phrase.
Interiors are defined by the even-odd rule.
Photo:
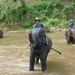
[[[46,27],[66,28],[75,22],[75,0],[0,0],[1,28],[32,28],[36,17]]]

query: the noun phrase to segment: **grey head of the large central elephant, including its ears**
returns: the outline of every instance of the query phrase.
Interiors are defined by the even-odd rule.
[[[43,28],[33,28],[29,35],[29,40],[33,46],[41,47],[42,44],[46,43],[46,35]]]

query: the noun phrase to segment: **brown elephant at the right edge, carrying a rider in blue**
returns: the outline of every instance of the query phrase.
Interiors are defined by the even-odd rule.
[[[70,44],[70,42],[72,42],[72,44],[75,44],[75,28],[71,28],[70,30],[67,30],[65,32],[65,36],[66,36],[67,44]]]

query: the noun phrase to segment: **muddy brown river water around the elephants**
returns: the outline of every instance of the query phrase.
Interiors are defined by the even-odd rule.
[[[25,32],[5,32],[0,39],[0,75],[75,75],[75,45],[68,45],[64,32],[48,33],[53,48],[47,59],[48,72],[41,72],[41,65],[29,71],[28,34]]]

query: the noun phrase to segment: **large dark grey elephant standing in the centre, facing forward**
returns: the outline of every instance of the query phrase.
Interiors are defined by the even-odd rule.
[[[48,45],[46,44],[46,37],[48,38]],[[34,71],[34,65],[41,61],[41,70],[46,71],[46,60],[48,53],[52,47],[51,38],[45,34],[43,28],[33,28],[29,33],[30,41],[30,71]]]

